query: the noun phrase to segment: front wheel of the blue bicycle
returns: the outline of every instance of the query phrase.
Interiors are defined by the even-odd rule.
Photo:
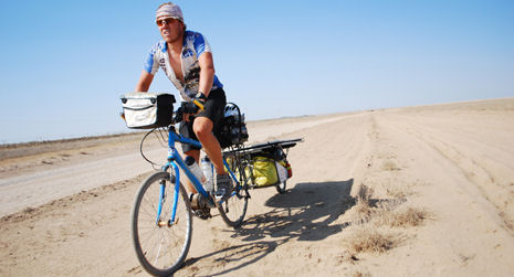
[[[133,243],[139,263],[151,275],[169,276],[177,271],[191,245],[191,206],[181,184],[177,192],[169,172],[157,172],[136,194]]]

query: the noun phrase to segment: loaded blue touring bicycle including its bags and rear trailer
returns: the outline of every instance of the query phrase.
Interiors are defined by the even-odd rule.
[[[287,151],[303,139],[275,140],[245,147],[243,143],[248,140],[248,131],[244,116],[235,104],[229,103],[214,135],[224,149],[223,163],[232,179],[233,189],[228,196],[223,193],[218,198],[213,193],[218,188],[206,191],[175,147],[181,142],[201,149],[199,141],[185,138],[175,129],[182,115],[190,114],[186,107],[174,111],[176,102],[170,94],[128,93],[120,99],[124,108],[122,117],[128,128],[151,129],[141,140],[140,152],[145,160],[159,167],[158,172],[143,182],[132,210],[134,248],[139,263],[148,273],[156,276],[174,274],[182,266],[191,245],[193,212],[182,185],[181,172],[202,200],[207,200],[207,204],[202,201],[200,212],[217,207],[221,219],[231,227],[239,227],[243,223],[250,189],[275,187],[279,193],[286,192],[286,180],[292,177]],[[200,103],[196,105],[202,108]],[[185,109],[187,113],[182,113]],[[150,134],[160,134],[157,138],[167,140],[168,158],[164,164],[155,163],[144,155],[143,142]],[[197,204],[196,212],[199,212],[198,201],[193,199],[192,203]],[[203,217],[206,214],[197,215]]]

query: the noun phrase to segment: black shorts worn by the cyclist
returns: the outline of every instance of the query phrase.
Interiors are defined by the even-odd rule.
[[[186,122],[186,121],[180,122],[180,127],[179,127],[180,135],[182,135],[186,138],[198,140],[197,136],[195,135],[195,131],[192,131],[192,124],[195,122],[195,118],[197,117],[207,117],[211,119],[214,126],[212,132],[214,132],[220,119],[223,118],[224,106],[227,106],[227,97],[224,95],[223,88],[217,88],[214,90],[211,90],[209,93],[209,97],[207,97],[207,102],[206,102],[206,105],[203,106],[203,110],[200,111],[198,115],[196,115],[191,120],[189,120],[189,122]],[[181,143],[181,145],[182,145],[182,152],[200,149],[200,148],[193,147],[188,143]]]

